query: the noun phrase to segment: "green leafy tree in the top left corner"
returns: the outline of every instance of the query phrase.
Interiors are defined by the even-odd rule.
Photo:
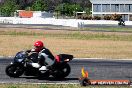
[[[0,12],[2,16],[11,16],[12,13],[14,13],[17,9],[19,9],[19,6],[16,5],[15,0],[6,0],[0,6]]]

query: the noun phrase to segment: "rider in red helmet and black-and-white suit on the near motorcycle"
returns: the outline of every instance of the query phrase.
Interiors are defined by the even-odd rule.
[[[49,51],[49,49],[44,47],[44,44],[42,41],[36,41],[34,43],[34,49],[31,50],[31,52],[37,52],[38,53],[38,60],[40,68],[39,70],[47,70],[55,63],[55,58],[53,54]]]

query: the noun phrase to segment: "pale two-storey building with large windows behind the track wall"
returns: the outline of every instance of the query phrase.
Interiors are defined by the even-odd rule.
[[[92,16],[120,14],[124,20],[132,21],[132,0],[90,0]]]

